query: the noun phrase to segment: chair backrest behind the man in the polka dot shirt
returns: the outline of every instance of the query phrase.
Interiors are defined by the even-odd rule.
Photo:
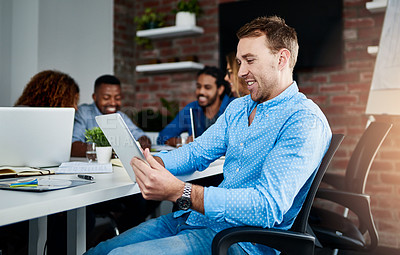
[[[297,215],[296,220],[294,221],[291,230],[300,232],[300,233],[306,233],[308,217],[310,215],[310,210],[311,210],[311,206],[313,204],[314,198],[315,198],[315,194],[317,193],[317,190],[321,183],[322,177],[324,177],[324,174],[325,174],[326,170],[328,169],[328,166],[333,158],[333,155],[339,148],[343,139],[344,139],[343,134],[333,134],[332,135],[332,139],[331,139],[329,148],[326,151],[324,157],[322,158],[321,164],[318,168],[318,171],[315,174],[315,177],[311,184],[310,190],[308,191],[307,197],[303,203],[303,207],[301,208],[299,214]]]

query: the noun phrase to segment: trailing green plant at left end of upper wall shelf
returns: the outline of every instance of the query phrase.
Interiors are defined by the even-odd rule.
[[[146,8],[142,16],[134,18],[136,30],[153,29],[164,26],[164,13],[155,12],[151,8]],[[146,49],[152,49],[151,40],[149,38],[135,37],[138,45],[144,46]]]

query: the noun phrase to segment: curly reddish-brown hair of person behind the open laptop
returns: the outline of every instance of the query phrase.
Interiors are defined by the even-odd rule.
[[[15,105],[78,108],[79,86],[68,74],[45,70],[26,85]]]

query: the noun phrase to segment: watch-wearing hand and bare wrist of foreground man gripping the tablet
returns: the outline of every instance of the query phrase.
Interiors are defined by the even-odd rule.
[[[183,194],[185,183],[165,169],[161,158],[151,156],[148,149],[144,151],[144,156],[149,165],[139,158],[131,160],[143,197],[149,200],[176,202]],[[191,209],[204,214],[204,187],[192,186],[191,201]]]

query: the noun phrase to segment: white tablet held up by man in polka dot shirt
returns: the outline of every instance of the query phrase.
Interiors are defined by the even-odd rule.
[[[145,162],[146,159],[125,121],[119,113],[113,113],[96,116],[96,122],[121,160],[132,182],[136,183],[135,172],[130,165],[131,159],[139,157]]]

